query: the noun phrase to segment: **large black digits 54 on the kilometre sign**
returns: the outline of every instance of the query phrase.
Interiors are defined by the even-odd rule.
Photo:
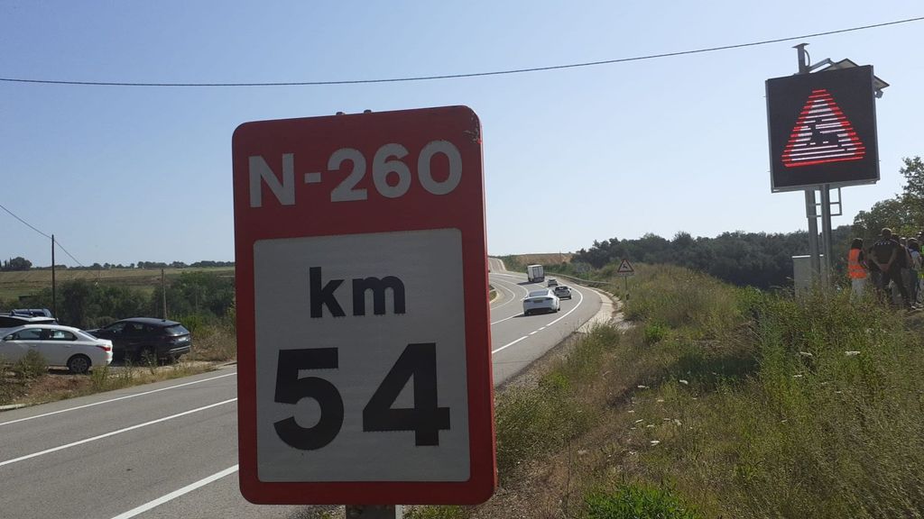
[[[321,408],[321,418],[310,428],[299,426],[295,416],[275,422],[276,434],[282,441],[303,451],[321,449],[334,441],[344,422],[344,402],[340,392],[329,380],[298,378],[298,371],[336,368],[337,348],[279,351],[275,401],[298,404],[302,398],[312,398]],[[393,408],[411,378],[414,380],[414,406]],[[363,408],[362,430],[413,430],[414,443],[421,446],[439,445],[439,431],[448,429],[449,407],[437,405],[436,344],[407,344]]]

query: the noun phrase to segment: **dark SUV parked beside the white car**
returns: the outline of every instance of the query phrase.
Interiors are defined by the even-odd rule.
[[[112,341],[113,356],[128,360],[176,360],[192,348],[192,336],[176,320],[134,317],[87,332]]]

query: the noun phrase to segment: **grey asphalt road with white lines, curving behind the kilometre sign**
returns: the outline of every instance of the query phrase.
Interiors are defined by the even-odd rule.
[[[537,284],[492,259],[494,383],[600,308],[577,288],[555,314],[523,317]],[[0,413],[0,517],[298,518],[316,508],[254,505],[237,489],[237,369]]]

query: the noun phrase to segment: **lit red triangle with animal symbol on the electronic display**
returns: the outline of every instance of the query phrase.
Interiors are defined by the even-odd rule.
[[[783,151],[786,167],[858,161],[866,146],[826,89],[811,92]]]

